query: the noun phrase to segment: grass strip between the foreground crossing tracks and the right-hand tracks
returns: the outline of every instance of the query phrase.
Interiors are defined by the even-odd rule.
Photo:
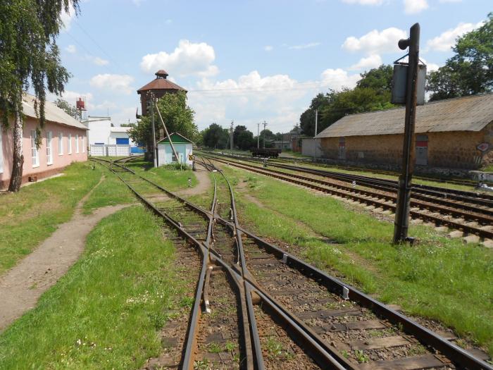
[[[227,168],[266,208],[238,193],[243,223],[299,245],[313,264],[406,312],[437,319],[493,354],[493,252],[426,226],[411,226],[414,247],[392,245],[393,224],[349,211],[331,197]],[[320,237],[325,238],[321,240]]]

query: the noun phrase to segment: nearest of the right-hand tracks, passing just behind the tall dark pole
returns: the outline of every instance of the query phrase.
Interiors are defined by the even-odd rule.
[[[395,211],[395,195],[361,189],[349,185],[342,185],[340,183],[333,183],[327,180],[319,180],[317,178],[310,178],[303,175],[297,175],[295,173],[277,171],[271,168],[261,168],[260,166],[239,163],[237,161],[230,161],[217,157],[211,158],[223,164],[230,164],[231,166],[235,166],[237,168],[268,175],[270,177],[285,180],[304,187],[309,187],[314,190],[338,197],[353,199],[357,202],[374,206],[375,208]],[[420,218],[424,221],[435,223],[437,226],[447,226],[456,230],[462,230],[466,235],[478,235],[482,240],[493,239],[493,217],[491,216],[491,209],[480,209],[479,207],[471,206],[470,211],[465,211],[463,209],[453,208],[451,205],[442,206],[439,204],[433,204],[431,200],[432,199],[428,199],[427,202],[416,200],[411,201],[411,206],[414,207],[414,209],[411,209],[411,216],[413,218]],[[455,203],[452,204],[456,205]],[[461,206],[464,207],[465,205],[461,204]],[[472,211],[473,209],[475,211]],[[444,216],[438,216],[437,214],[442,214]],[[458,218],[458,220],[454,221],[454,219],[449,219],[447,216],[449,218]]]

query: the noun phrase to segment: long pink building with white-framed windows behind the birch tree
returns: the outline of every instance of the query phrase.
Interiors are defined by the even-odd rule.
[[[30,177],[45,178],[60,172],[72,162],[87,161],[87,128],[55,104],[46,101],[42,144],[35,146],[36,116],[32,95],[23,97],[23,183]],[[12,129],[0,128],[0,189],[6,189],[12,173]]]

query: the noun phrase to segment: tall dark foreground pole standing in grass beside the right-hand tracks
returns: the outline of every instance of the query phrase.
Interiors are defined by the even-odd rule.
[[[408,239],[409,206],[411,202],[411,180],[414,170],[416,121],[416,83],[418,80],[420,25],[414,24],[408,39],[399,40],[399,48],[409,48],[406,84],[406,118],[404,121],[404,145],[402,148],[402,173],[399,176],[399,192],[394,221],[394,243]]]

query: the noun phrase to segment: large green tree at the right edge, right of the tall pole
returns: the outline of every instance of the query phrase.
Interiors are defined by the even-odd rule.
[[[477,30],[457,39],[455,55],[430,72],[430,101],[493,91],[493,13]]]

